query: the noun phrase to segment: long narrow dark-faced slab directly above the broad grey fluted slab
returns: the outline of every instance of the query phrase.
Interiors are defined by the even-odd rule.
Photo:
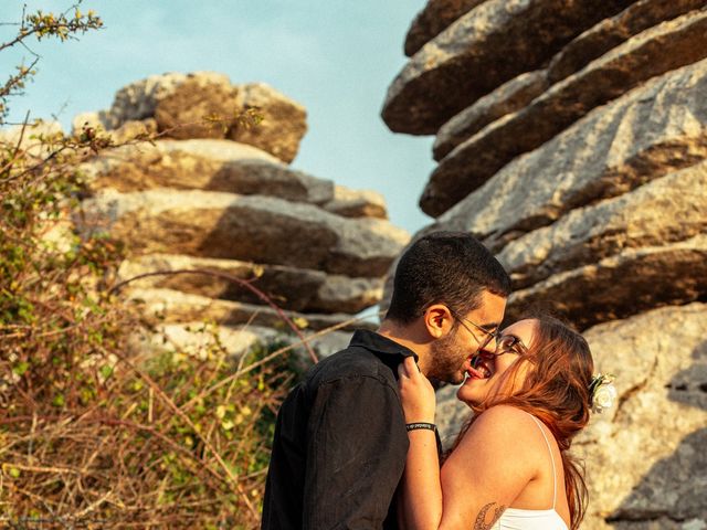
[[[644,81],[707,56],[707,11],[646,30],[474,135],[437,166],[420,205],[439,215],[520,153]]]

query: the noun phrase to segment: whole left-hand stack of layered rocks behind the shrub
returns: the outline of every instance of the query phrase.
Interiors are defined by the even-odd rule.
[[[234,350],[292,333],[285,319],[305,336],[347,329],[380,300],[409,236],[387,220],[380,194],[288,166],[306,131],[300,105],[220,74],[167,74],[74,120],[97,127],[118,147],[81,168],[88,197],[77,223],[125,245],[120,279],[138,278],[130,298],[173,346],[198,346],[203,321]],[[320,353],[346,337],[319,339]]]

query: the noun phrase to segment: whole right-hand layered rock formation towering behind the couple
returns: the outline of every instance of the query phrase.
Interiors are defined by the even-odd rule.
[[[707,528],[707,0],[430,0],[405,52],[382,116],[436,135],[421,234],[477,236],[508,319],[563,315],[618,377],[582,528]]]

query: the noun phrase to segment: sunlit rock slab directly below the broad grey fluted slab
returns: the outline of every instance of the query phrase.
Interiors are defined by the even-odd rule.
[[[496,257],[510,274],[514,288],[524,288],[623,248],[707,233],[705,212],[707,162],[701,162],[618,198],[572,210],[550,226],[511,241]]]

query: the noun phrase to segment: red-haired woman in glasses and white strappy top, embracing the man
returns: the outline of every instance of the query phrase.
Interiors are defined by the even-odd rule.
[[[587,489],[568,454],[589,420],[587,341],[541,316],[506,328],[495,353],[469,359],[457,398],[475,415],[440,469],[434,390],[412,359],[400,365],[410,449],[400,524],[412,529],[576,530]]]

